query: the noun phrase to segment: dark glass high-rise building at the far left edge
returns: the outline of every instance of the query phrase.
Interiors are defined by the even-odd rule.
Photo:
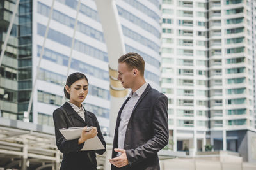
[[[20,1],[0,67],[1,116],[22,119],[32,87],[32,1]],[[1,1],[0,40],[3,50],[6,32],[15,11],[15,1]]]

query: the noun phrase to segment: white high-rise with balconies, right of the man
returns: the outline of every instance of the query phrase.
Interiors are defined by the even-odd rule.
[[[161,88],[173,150],[211,144],[253,159],[255,4],[163,0]]]

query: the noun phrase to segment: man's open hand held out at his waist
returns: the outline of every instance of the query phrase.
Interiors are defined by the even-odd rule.
[[[126,152],[123,149],[114,149],[115,152],[121,152],[122,154],[113,159],[109,159],[109,162],[116,167],[123,167],[129,164]]]

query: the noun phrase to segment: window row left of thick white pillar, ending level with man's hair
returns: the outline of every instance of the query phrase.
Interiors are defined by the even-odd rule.
[[[46,27],[44,25],[37,25],[38,35],[44,36],[45,31]],[[62,45],[71,47],[72,38],[53,29],[49,29],[47,38],[51,39],[52,41],[56,41],[57,43],[60,43]],[[96,59],[108,62],[108,54],[106,52],[103,52],[97,48],[94,48],[93,46],[82,43],[81,41],[75,40],[74,49],[79,52],[86,53],[87,55],[90,55],[92,57],[95,57]]]

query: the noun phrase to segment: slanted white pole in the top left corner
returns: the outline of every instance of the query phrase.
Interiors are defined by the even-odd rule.
[[[19,3],[20,3],[20,0],[17,0],[16,4],[15,4],[15,10],[12,13],[12,18],[11,18],[10,24],[8,26],[8,30],[6,32],[6,37],[4,39],[4,45],[2,46],[2,51],[1,51],[1,54],[0,54],[0,67],[1,67],[1,64],[2,64],[2,61],[3,61],[3,58],[4,58],[4,53],[5,53],[5,50],[6,50],[8,40],[10,38],[10,34],[11,34],[11,31],[12,31],[12,25],[13,25],[13,22],[15,20],[15,16],[16,16],[16,13],[17,13],[17,10],[18,10],[18,7],[19,7]],[[1,107],[0,107],[0,117],[2,117]]]

